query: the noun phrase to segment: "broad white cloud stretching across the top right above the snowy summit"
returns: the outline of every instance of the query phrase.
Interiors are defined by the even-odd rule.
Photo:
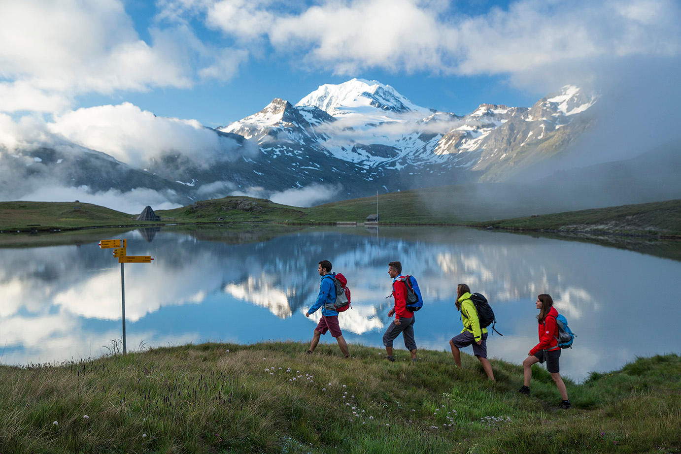
[[[302,53],[338,74],[513,74],[600,56],[676,56],[680,18],[672,0],[522,0],[478,16],[417,0],[326,1],[293,13],[279,2],[221,0],[206,13],[208,25],[227,35],[266,37],[280,52]]]

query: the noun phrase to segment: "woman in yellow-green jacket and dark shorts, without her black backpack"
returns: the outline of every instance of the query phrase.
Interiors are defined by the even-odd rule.
[[[464,324],[461,333],[449,340],[456,367],[461,367],[459,348],[473,345],[473,355],[482,363],[487,378],[494,381],[492,364],[487,359],[487,328],[480,327],[480,319],[477,316],[475,304],[471,301],[471,289],[466,284],[456,286],[456,309],[461,311],[461,321]]]

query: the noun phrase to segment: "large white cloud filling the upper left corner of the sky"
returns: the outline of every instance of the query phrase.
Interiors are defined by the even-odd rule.
[[[242,51],[206,46],[173,23],[140,39],[119,0],[0,2],[0,111],[62,112],[86,93],[191,88],[226,80]]]

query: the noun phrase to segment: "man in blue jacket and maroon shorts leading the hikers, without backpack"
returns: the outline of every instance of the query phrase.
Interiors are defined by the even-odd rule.
[[[348,353],[347,350],[347,342],[345,342],[345,339],[343,338],[343,333],[340,332],[340,326],[338,326],[338,312],[336,312],[334,308],[334,303],[336,302],[336,285],[334,283],[334,278],[336,277],[336,273],[331,272],[331,262],[328,260],[319,262],[317,272],[319,272],[319,276],[321,276],[319,296],[317,296],[317,302],[312,305],[310,310],[305,312],[305,317],[310,317],[310,314],[314,314],[315,311],[321,307],[321,319],[315,328],[315,334],[312,338],[312,342],[310,342],[310,348],[305,353],[312,353],[315,351],[315,347],[319,344],[319,337],[322,334],[326,334],[326,331],[331,331],[331,336],[336,338],[341,353],[343,353],[344,357],[349,358],[350,353]]]

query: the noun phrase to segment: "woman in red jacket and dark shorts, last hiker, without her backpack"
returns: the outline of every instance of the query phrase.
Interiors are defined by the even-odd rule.
[[[539,315],[537,315],[537,321],[539,322],[539,344],[530,350],[528,357],[522,361],[522,373],[524,376],[524,383],[520,389],[519,393],[529,394],[530,393],[530,378],[532,378],[532,365],[534,363],[543,363],[546,361],[546,370],[551,374],[558,391],[560,392],[560,398],[563,402],[560,402],[560,408],[570,408],[570,400],[567,398],[567,389],[565,389],[565,383],[563,383],[563,378],[560,378],[558,373],[558,358],[560,357],[560,347],[558,346],[558,324],[556,323],[556,317],[558,317],[558,311],[553,307],[553,299],[551,295],[542,293],[537,297],[537,309],[539,309]]]

